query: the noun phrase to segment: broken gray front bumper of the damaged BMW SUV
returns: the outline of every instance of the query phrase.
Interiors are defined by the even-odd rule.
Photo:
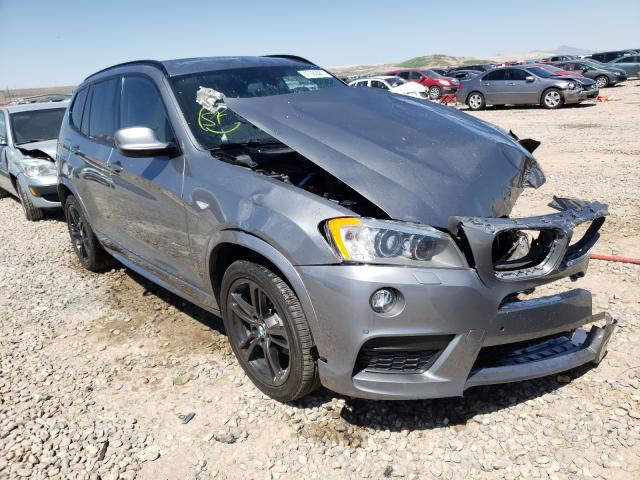
[[[606,207],[602,210],[599,204],[563,207],[566,210],[560,214],[519,220],[517,225],[544,224],[566,232],[571,225],[595,223],[606,215]],[[479,219],[455,219],[473,244],[476,258],[486,246],[479,237],[491,233],[493,238],[508,225],[502,221],[514,222],[473,220]],[[474,269],[297,267],[318,322],[314,339],[323,385],[354,397],[438,398],[460,396],[475,385],[542,377],[598,363],[616,322],[605,313],[593,315],[588,291],[530,300],[513,296],[553,279],[583,275],[596,240],[597,232],[574,248],[571,258],[568,253],[556,258],[554,251],[551,268],[545,264],[542,272],[530,269],[516,275],[526,277],[522,279],[498,279],[491,262],[477,261]],[[382,287],[402,294],[403,308],[393,316],[376,314],[369,307],[371,294]],[[597,321],[605,324],[589,332],[580,328]]]

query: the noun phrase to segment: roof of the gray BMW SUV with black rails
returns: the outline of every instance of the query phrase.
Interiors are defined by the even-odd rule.
[[[86,80],[98,74],[107,73],[120,67],[152,66],[163,71],[167,76],[173,77],[196,72],[206,72],[212,70],[228,70],[231,68],[251,68],[260,66],[287,66],[299,65],[309,66],[313,63],[301,57],[293,55],[269,55],[264,57],[196,57],[178,58],[175,60],[136,60],[133,62],[121,63],[107,67],[92,75]]]

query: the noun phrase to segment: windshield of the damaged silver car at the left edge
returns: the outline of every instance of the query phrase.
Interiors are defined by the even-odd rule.
[[[10,114],[13,143],[20,145],[57,139],[65,110],[52,108]]]

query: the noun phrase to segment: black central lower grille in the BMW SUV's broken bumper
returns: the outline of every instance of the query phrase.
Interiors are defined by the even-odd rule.
[[[484,347],[480,350],[473,368],[510,367],[537,362],[573,353],[580,348],[580,345],[571,341],[569,332],[526,342]]]

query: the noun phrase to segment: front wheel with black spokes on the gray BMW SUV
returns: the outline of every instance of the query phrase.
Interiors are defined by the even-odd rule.
[[[311,329],[296,294],[262,265],[246,260],[224,274],[221,308],[231,348],[247,376],[280,402],[319,385]]]

